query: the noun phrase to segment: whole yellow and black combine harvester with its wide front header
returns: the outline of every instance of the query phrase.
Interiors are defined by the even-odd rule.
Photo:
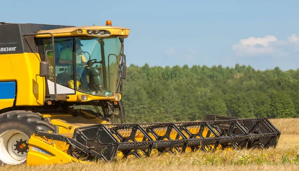
[[[0,23],[0,164],[30,166],[276,147],[267,118],[127,124],[130,30]]]

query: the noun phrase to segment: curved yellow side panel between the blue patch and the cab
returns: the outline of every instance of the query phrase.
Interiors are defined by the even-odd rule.
[[[9,54],[8,57],[16,80],[16,106],[42,106],[45,79],[39,76],[39,54]]]

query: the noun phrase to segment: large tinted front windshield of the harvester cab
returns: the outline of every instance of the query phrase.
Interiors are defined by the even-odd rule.
[[[118,74],[119,59],[121,53],[121,42],[118,38],[78,38],[81,42],[82,55],[87,59],[87,82],[88,89],[81,91],[100,96],[113,95],[116,89],[116,78]],[[84,60],[76,60],[76,64]],[[82,68],[82,67],[81,67]],[[81,72],[82,71],[82,72]],[[77,73],[83,73],[84,70],[78,69]],[[84,79],[83,79],[84,80]],[[80,89],[79,89],[80,91]]]

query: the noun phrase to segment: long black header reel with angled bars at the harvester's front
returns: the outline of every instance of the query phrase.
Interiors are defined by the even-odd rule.
[[[200,122],[98,124],[77,128],[73,139],[113,160],[124,157],[150,156],[153,151],[172,154],[192,151],[214,151],[227,148],[276,147],[280,131],[266,118],[231,119]],[[108,148],[109,147],[109,148]],[[153,150],[155,149],[155,150]],[[70,146],[75,157],[81,149]],[[91,154],[89,154],[91,155]],[[91,155],[92,156],[92,155]]]

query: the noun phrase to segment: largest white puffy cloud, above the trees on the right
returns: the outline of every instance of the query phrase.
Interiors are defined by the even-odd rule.
[[[272,35],[267,35],[263,38],[249,37],[241,39],[238,44],[232,46],[232,49],[236,52],[237,56],[271,54],[275,51],[272,44],[277,41],[277,38]]]

